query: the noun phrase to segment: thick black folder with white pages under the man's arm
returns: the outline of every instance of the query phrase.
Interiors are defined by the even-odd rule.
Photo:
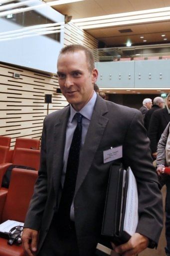
[[[127,242],[135,233],[137,223],[138,191],[135,176],[130,167],[124,169],[122,164],[112,164],[101,233],[119,245]]]

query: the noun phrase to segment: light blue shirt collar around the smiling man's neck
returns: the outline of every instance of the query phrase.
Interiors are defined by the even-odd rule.
[[[91,116],[92,116],[92,113],[93,113],[93,109],[94,109],[94,105],[95,105],[95,102],[96,102],[96,98],[97,98],[97,94],[96,94],[96,92],[94,92],[92,98],[79,111],[79,113],[81,113],[84,117],[86,117],[89,120],[91,120]],[[75,113],[77,113],[77,111],[70,104],[70,118],[69,118],[70,122],[72,122]]]

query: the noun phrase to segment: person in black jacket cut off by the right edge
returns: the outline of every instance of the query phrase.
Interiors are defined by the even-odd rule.
[[[157,145],[163,131],[170,122],[170,93],[166,98],[165,108],[158,109],[153,112],[148,129],[148,137],[150,138],[151,151],[153,159],[157,158]]]

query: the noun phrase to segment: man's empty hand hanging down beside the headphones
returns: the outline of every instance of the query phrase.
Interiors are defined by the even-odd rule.
[[[22,232],[22,247],[27,255],[34,256],[37,250],[38,231],[24,228]]]

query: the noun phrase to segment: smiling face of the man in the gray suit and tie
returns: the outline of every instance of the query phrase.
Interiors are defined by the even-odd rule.
[[[93,84],[98,71],[91,72],[84,51],[66,52],[59,55],[57,62],[58,82],[63,95],[79,111],[93,96]]]

